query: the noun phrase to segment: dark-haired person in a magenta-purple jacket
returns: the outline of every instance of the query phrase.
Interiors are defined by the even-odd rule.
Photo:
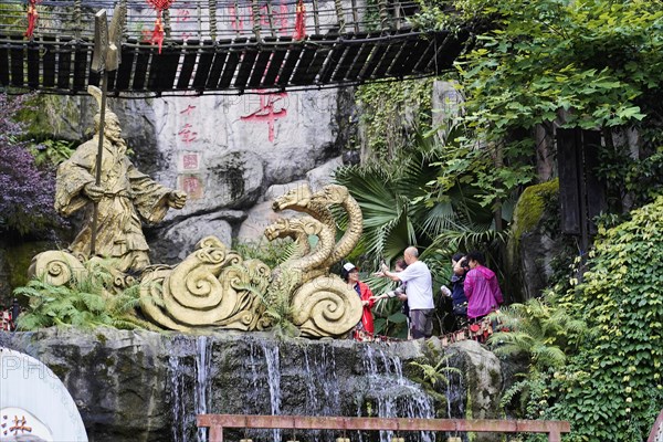
[[[476,322],[491,312],[495,312],[504,302],[495,272],[484,266],[481,252],[472,252],[465,256],[470,272],[465,275],[463,288],[467,298],[467,318]]]

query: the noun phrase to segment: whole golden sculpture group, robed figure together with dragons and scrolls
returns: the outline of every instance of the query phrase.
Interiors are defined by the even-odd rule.
[[[140,222],[159,221],[168,208],[181,209],[186,194],[137,171],[124,155],[126,145],[119,133],[117,117],[109,113],[99,185],[94,179],[98,126],[97,135],[59,169],[57,209],[71,214],[85,208],[86,222],[67,251],[36,255],[32,274],[64,285],[86,272],[86,260],[112,257],[116,288],[138,282],[143,314],[175,330],[269,329],[274,323],[270,313],[284,298],[290,303],[294,325],[304,336],[343,336],[359,322],[359,297],[338,276],[329,274],[329,267],[347,256],[361,235],[361,210],[347,188],[328,185],[314,193],[308,185],[302,185],[274,199],[274,211],[303,213],[294,219],[281,218],[264,230],[270,241],[291,238],[296,244],[295,253],[275,269],[257,260],[244,260],[215,236],[200,240],[194,251],[175,266],[150,265]],[[91,256],[94,203],[99,240],[95,256]],[[348,218],[348,228],[338,242],[333,206],[343,208]],[[317,238],[314,248],[309,236]]]

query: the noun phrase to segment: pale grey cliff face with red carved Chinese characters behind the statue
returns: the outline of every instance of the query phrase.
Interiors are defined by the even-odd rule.
[[[144,227],[154,263],[175,264],[203,236],[257,241],[276,217],[269,200],[294,183],[329,182],[348,146],[351,90],[242,96],[108,99],[133,161],[189,194],[181,211]],[[42,98],[31,131],[76,143],[93,134],[92,97]],[[74,222],[73,231],[76,230]],[[66,241],[65,241],[66,242]]]

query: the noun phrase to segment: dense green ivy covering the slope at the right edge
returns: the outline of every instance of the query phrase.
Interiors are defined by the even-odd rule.
[[[663,197],[600,229],[583,282],[564,296],[592,333],[555,378],[572,441],[640,441],[663,407]]]

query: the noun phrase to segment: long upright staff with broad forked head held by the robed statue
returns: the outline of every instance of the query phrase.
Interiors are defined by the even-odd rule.
[[[120,38],[126,17],[126,8],[119,4],[113,12],[113,21],[110,31],[108,31],[108,22],[106,19],[106,10],[102,9],[94,15],[94,52],[92,56],[91,69],[101,74],[102,86],[102,104],[99,109],[99,144],[96,157],[96,176],[95,183],[99,186],[102,182],[102,158],[104,155],[104,127],[106,123],[106,96],[108,95],[108,72],[119,67],[122,60]],[[94,95],[88,86],[87,91]],[[97,235],[97,219],[98,204],[94,202],[94,212],[92,217],[92,239],[90,241],[90,254],[96,253],[96,235]]]

